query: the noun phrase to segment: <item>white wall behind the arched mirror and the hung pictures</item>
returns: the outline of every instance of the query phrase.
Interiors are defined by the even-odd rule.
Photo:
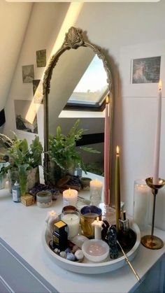
[[[13,99],[31,97],[31,87],[22,85],[21,66],[22,64],[35,62],[35,50],[45,48],[47,43],[50,45],[53,32],[55,41],[57,36],[55,32],[57,33],[59,30],[65,9],[66,3],[34,4],[31,22],[6,104],[6,116],[8,117],[5,127],[6,132],[13,127]],[[156,99],[155,95],[152,95],[152,97],[123,97],[122,85],[125,76],[121,75],[120,61],[125,46],[155,43],[159,51],[157,43],[164,39],[164,10],[164,1],[157,3],[84,3],[74,24],[76,27],[87,31],[87,36],[92,43],[100,45],[104,49],[113,70],[115,113],[113,121],[112,182],[114,182],[115,171],[115,145],[118,144],[121,149],[121,196],[122,200],[126,202],[127,211],[130,214],[133,206],[134,180],[152,175]],[[139,54],[141,55],[141,51],[139,51]],[[144,57],[148,57],[148,54]],[[38,72],[36,72],[36,77],[39,77]],[[162,82],[164,87],[164,80]],[[160,158],[160,176],[162,178],[165,178],[164,127],[163,99]],[[157,207],[161,208],[161,212],[165,208],[164,192],[162,190],[157,196]],[[114,200],[113,195],[112,187],[112,201]],[[162,213],[156,211],[156,224],[165,229],[163,217]]]

